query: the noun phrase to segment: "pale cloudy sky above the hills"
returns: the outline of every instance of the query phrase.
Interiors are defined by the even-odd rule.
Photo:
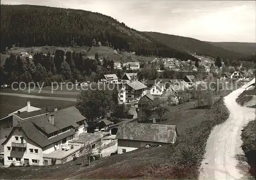
[[[255,1],[1,0],[1,4],[82,9],[109,15],[138,31],[204,41],[256,42]]]

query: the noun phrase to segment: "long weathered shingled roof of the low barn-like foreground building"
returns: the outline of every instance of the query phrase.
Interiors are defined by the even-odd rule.
[[[147,123],[121,123],[116,139],[173,143],[176,126]]]

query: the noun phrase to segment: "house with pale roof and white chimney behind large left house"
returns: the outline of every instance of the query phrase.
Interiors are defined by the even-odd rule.
[[[54,109],[56,110],[57,107]],[[0,128],[13,127],[20,121],[45,114],[48,114],[46,110],[31,106],[30,101],[28,101],[27,106],[20,108],[13,113],[10,113],[8,116],[0,119]]]

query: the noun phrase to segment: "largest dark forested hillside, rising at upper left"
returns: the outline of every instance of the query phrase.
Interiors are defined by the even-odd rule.
[[[112,17],[83,10],[31,5],[1,5],[1,50],[13,44],[31,46],[92,46],[95,41],[137,55],[197,60]]]

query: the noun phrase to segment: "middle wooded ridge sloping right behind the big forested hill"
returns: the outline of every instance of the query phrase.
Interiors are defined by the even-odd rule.
[[[196,52],[199,55],[207,55],[223,59],[239,59],[243,54],[231,52],[220,47],[216,47],[210,43],[200,41],[190,37],[163,34],[158,32],[145,32],[146,34],[156,38],[158,41],[166,44],[170,48],[181,51]]]

